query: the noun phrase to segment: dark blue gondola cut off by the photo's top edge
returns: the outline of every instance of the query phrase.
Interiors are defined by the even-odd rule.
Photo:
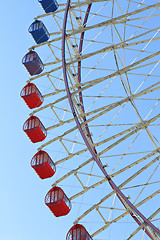
[[[56,0],[38,0],[46,13],[55,12],[58,9]]]

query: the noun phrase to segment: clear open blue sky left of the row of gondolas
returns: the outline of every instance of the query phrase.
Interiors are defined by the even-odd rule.
[[[38,0],[2,1],[0,239],[65,239],[70,223],[44,204],[53,180],[41,181],[30,167],[36,152],[22,131],[29,110],[20,98],[28,73],[22,57],[33,44],[28,27],[43,10]],[[68,223],[67,223],[68,222]]]

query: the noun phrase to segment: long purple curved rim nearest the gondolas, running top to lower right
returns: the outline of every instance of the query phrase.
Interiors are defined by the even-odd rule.
[[[65,82],[65,87],[66,87],[66,92],[67,92],[67,96],[68,96],[68,100],[69,100],[69,104],[71,107],[71,111],[72,114],[74,116],[75,122],[77,124],[77,127],[80,131],[80,134],[88,148],[88,150],[90,151],[93,159],[95,160],[95,162],[97,163],[98,167],[100,168],[100,170],[102,171],[102,173],[104,174],[104,176],[107,178],[110,186],[115,190],[115,192],[117,193],[118,198],[120,199],[120,201],[122,202],[122,204],[125,206],[125,204],[123,203],[123,201],[121,200],[121,198],[127,203],[127,205],[133,210],[133,212],[135,212],[139,217],[141,217],[141,219],[148,225],[150,226],[159,236],[160,236],[160,230],[157,229],[127,198],[126,196],[120,191],[120,189],[117,187],[117,185],[112,181],[112,179],[109,177],[109,175],[107,174],[106,170],[103,168],[101,162],[97,159],[94,150],[91,148],[82,128],[81,128],[81,124],[78,120],[78,117],[76,115],[75,109],[74,109],[74,105],[72,102],[72,98],[71,98],[71,93],[69,90],[69,85],[68,85],[68,79],[67,79],[67,73],[66,73],[66,62],[65,62],[65,40],[66,40],[66,24],[67,24],[67,17],[68,17],[68,11],[69,11],[69,7],[70,7],[70,0],[67,0],[66,3],[66,9],[65,9],[65,13],[64,13],[64,20],[63,20],[63,29],[62,29],[62,67],[63,67],[63,77],[64,77],[64,82]],[[125,206],[126,207],[126,206]],[[138,218],[133,214],[133,212],[130,212],[130,215],[133,217],[133,219],[137,222],[138,225],[141,225],[140,221],[138,220]],[[154,240],[154,238],[150,235],[150,233],[148,232],[147,229],[145,229],[146,234]]]

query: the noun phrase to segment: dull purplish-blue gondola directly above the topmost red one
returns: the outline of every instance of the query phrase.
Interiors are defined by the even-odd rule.
[[[31,76],[40,74],[44,69],[44,65],[35,51],[28,52],[23,57],[22,63],[24,64]]]

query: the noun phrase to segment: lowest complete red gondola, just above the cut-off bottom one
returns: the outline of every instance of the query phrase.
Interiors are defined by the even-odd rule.
[[[71,210],[68,197],[59,187],[50,189],[45,197],[45,204],[56,217],[67,215]]]

